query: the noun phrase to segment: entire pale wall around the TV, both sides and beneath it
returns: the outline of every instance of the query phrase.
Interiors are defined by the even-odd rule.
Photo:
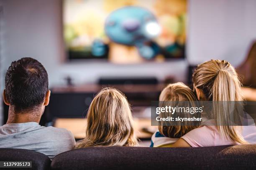
[[[186,81],[187,62],[215,58],[236,66],[256,39],[255,0],[189,0],[187,60],[140,65],[64,62],[60,0],[0,2],[4,10],[3,70],[20,57],[34,57],[46,67],[51,87],[63,84],[67,75],[77,84],[95,82],[104,75],[156,76],[160,80],[173,75],[177,81]]]

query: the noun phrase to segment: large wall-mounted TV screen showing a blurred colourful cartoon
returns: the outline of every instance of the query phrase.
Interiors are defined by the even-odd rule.
[[[187,0],[64,0],[69,59],[115,63],[184,58]]]

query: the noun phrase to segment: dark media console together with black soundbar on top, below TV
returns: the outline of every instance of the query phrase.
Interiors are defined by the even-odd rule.
[[[51,117],[85,117],[93,97],[104,87],[114,87],[125,94],[132,106],[150,106],[158,100],[164,85],[154,77],[100,78],[98,84],[54,87],[47,112]]]

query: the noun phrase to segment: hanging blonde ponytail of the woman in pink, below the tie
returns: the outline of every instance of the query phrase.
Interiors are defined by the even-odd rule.
[[[234,81],[233,75],[227,70],[219,70],[212,86],[213,108],[218,130],[224,138],[230,138],[241,144],[247,142],[241,135],[241,124],[239,117],[239,103],[236,101],[236,90],[239,82]],[[220,102],[218,102],[220,101]],[[231,108],[230,108],[231,107]]]

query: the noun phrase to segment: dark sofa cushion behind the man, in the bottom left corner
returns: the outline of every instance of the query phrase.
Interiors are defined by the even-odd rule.
[[[3,168],[4,170],[49,170],[51,160],[44,154],[26,149],[0,148],[0,161],[32,161],[32,168]]]

